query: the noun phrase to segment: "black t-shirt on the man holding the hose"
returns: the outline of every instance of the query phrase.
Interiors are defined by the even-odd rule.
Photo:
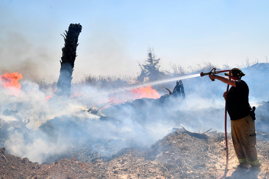
[[[231,120],[241,119],[250,114],[249,87],[243,80],[235,80],[236,87],[231,87],[226,98],[226,108]]]

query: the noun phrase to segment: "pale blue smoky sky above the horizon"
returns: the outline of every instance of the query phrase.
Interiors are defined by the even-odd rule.
[[[84,74],[132,75],[148,45],[169,63],[222,66],[266,62],[268,1],[0,0],[0,72],[56,81],[63,34],[80,23],[74,80]]]

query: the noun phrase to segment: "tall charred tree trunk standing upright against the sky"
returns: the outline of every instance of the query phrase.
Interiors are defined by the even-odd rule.
[[[62,48],[63,55],[61,57],[60,76],[57,82],[56,96],[70,97],[71,81],[76,59],[76,50],[79,33],[82,30],[80,24],[70,24],[68,31],[65,31],[65,46]]]

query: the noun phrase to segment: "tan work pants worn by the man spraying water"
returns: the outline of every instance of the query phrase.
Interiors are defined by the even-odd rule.
[[[238,120],[231,120],[233,147],[239,162],[249,162],[250,165],[259,164],[256,150],[255,123],[251,116]]]

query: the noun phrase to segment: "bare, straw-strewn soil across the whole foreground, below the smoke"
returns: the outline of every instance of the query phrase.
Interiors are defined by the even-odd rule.
[[[225,170],[224,133],[207,133],[208,139],[197,139],[176,130],[148,148],[125,148],[104,161],[80,162],[69,155],[50,164],[32,163],[0,149],[0,178],[218,178]],[[238,160],[228,134],[229,166],[226,178],[268,178],[267,151],[269,143],[257,140],[261,170],[233,169]],[[211,159],[210,157],[216,159]],[[222,163],[220,163],[222,162]]]

